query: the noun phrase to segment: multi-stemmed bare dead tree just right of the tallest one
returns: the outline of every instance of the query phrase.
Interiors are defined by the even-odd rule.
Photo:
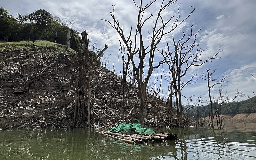
[[[202,59],[202,54],[205,49],[199,48],[199,45],[196,44],[196,36],[200,30],[196,33],[192,31],[193,25],[191,26],[190,33],[187,37],[185,37],[185,33],[183,33],[182,37],[175,41],[174,36],[172,36],[172,41],[174,45],[174,50],[171,51],[169,45],[165,47],[165,51],[162,51],[162,55],[169,66],[169,70],[172,73],[171,76],[171,89],[174,90],[175,100],[176,100],[176,111],[177,118],[180,123],[180,127],[184,127],[182,121],[182,94],[181,91],[183,87],[187,84],[195,83],[194,78],[197,75],[197,72],[194,73],[191,78],[188,80],[182,80],[185,75],[187,75],[189,69],[193,66],[202,66],[204,63],[211,62],[213,59],[218,59],[217,55],[221,52],[217,52],[211,57],[206,59]],[[172,95],[172,93],[170,93]],[[171,97],[169,97],[171,99]]]

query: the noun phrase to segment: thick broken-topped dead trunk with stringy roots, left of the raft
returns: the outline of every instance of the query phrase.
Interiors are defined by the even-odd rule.
[[[79,40],[77,41],[73,30],[71,29],[72,38],[75,41],[77,58],[79,62],[79,76],[76,80],[76,97],[75,106],[73,110],[73,125],[75,127],[91,127],[91,92],[92,92],[92,68],[91,64],[93,60],[89,60],[89,40],[87,38],[87,32],[82,32],[83,48],[79,48]],[[94,57],[97,60],[98,57],[108,48],[105,48]]]

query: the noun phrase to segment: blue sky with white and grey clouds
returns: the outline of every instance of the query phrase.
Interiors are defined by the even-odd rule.
[[[136,0],[136,3],[139,3]],[[144,0],[145,5],[148,1]],[[157,15],[161,0],[157,0],[155,5],[148,8],[145,15]],[[86,30],[91,42],[97,42],[98,48],[104,48],[105,44],[108,49],[105,51],[105,61],[108,63],[108,69],[112,70],[113,63],[115,73],[117,75],[123,70],[123,64],[119,54],[119,41],[116,31],[106,22],[101,19],[112,20],[109,11],[112,11],[112,4],[115,5],[116,18],[122,25],[125,33],[133,26],[136,27],[138,10],[134,6],[132,0],[1,0],[1,7],[6,8],[15,16],[17,13],[23,15],[35,12],[38,9],[44,9],[50,12],[53,16],[64,18],[68,15],[68,19],[75,21],[72,28],[80,33]],[[235,101],[246,100],[248,97],[253,97],[253,91],[256,90],[256,50],[253,49],[256,44],[256,1],[255,0],[177,0],[173,5],[164,10],[162,13],[165,19],[172,15],[178,14],[182,17],[187,16],[192,7],[196,10],[191,16],[185,20],[179,28],[165,36],[159,48],[165,44],[172,44],[171,38],[179,38],[184,32],[187,32],[193,24],[193,31],[199,29],[196,43],[200,48],[206,49],[202,53],[202,58],[207,58],[216,54],[219,49],[219,59],[215,59],[210,63],[206,63],[200,67],[193,67],[184,77],[184,81],[198,71],[201,75],[206,73],[206,69],[216,69],[212,75],[213,78],[228,76],[223,92],[228,93],[230,97],[235,93],[235,89],[241,91],[245,96],[239,97]],[[154,20],[155,16],[152,17]],[[153,21],[148,20],[148,23],[143,28],[144,37],[147,37],[148,30],[153,25]],[[162,60],[162,57],[156,54],[155,61]],[[147,63],[145,64],[147,69]],[[158,70],[158,76],[167,75],[166,66],[161,66]],[[154,76],[154,75],[153,75]],[[151,77],[151,82],[154,77]],[[195,79],[196,80],[196,79]],[[163,77],[162,94],[168,95],[168,82]],[[161,95],[162,95],[161,94]],[[203,102],[209,102],[207,81],[197,79],[196,83],[185,86],[182,90],[185,97],[191,97],[192,101],[196,101],[198,97],[202,97]],[[161,96],[160,95],[160,96]],[[217,99],[218,93],[212,91],[212,95]],[[163,97],[163,96],[162,96]],[[183,105],[188,102],[183,100]]]

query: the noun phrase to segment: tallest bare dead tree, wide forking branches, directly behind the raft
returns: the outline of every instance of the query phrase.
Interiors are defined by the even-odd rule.
[[[128,60],[126,64],[129,64],[128,62],[131,61],[133,77],[136,79],[138,84],[140,99],[139,123],[142,126],[144,126],[143,109],[146,99],[146,86],[148,84],[150,76],[152,75],[153,69],[158,68],[161,64],[164,63],[164,60],[162,60],[160,62],[157,62],[155,66],[153,65],[155,53],[159,52],[157,46],[160,44],[164,36],[171,34],[194,11],[193,10],[187,17],[182,20],[180,20],[180,15],[176,19],[174,19],[175,15],[170,15],[165,20],[162,13],[176,1],[177,0],[162,0],[162,3],[158,5],[159,8],[157,14],[154,16],[151,14],[148,17],[145,17],[145,13],[148,11],[148,8],[153,7],[153,5],[156,4],[156,0],[153,0],[145,6],[142,5],[142,0],[140,0],[140,4],[137,4],[135,0],[133,0],[135,7],[138,9],[138,19],[135,29],[131,27],[130,32],[127,35],[124,33],[122,25],[115,17],[115,5],[112,4],[113,11],[110,11],[110,16],[113,21],[109,21],[106,19],[104,20],[108,22],[119,35],[121,43],[120,46],[124,47],[123,50],[126,50],[128,53]],[[153,20],[151,28],[148,28],[145,25],[148,20]],[[135,32],[133,33],[133,31]],[[144,35],[143,31],[147,32],[147,34]],[[147,61],[147,63],[145,64],[148,65],[148,70],[145,70],[145,68],[143,67],[145,61]],[[127,70],[128,68],[125,69]],[[125,75],[124,78],[126,78]]]

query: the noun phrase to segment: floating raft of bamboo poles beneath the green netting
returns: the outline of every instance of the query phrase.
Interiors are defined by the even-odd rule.
[[[132,134],[126,135],[121,133],[113,133],[110,131],[97,131],[101,134],[107,135],[118,140],[122,140],[129,144],[143,144],[143,143],[156,143],[163,142],[167,140],[179,140],[178,136],[172,133],[156,133],[153,135],[141,135],[141,134]]]

